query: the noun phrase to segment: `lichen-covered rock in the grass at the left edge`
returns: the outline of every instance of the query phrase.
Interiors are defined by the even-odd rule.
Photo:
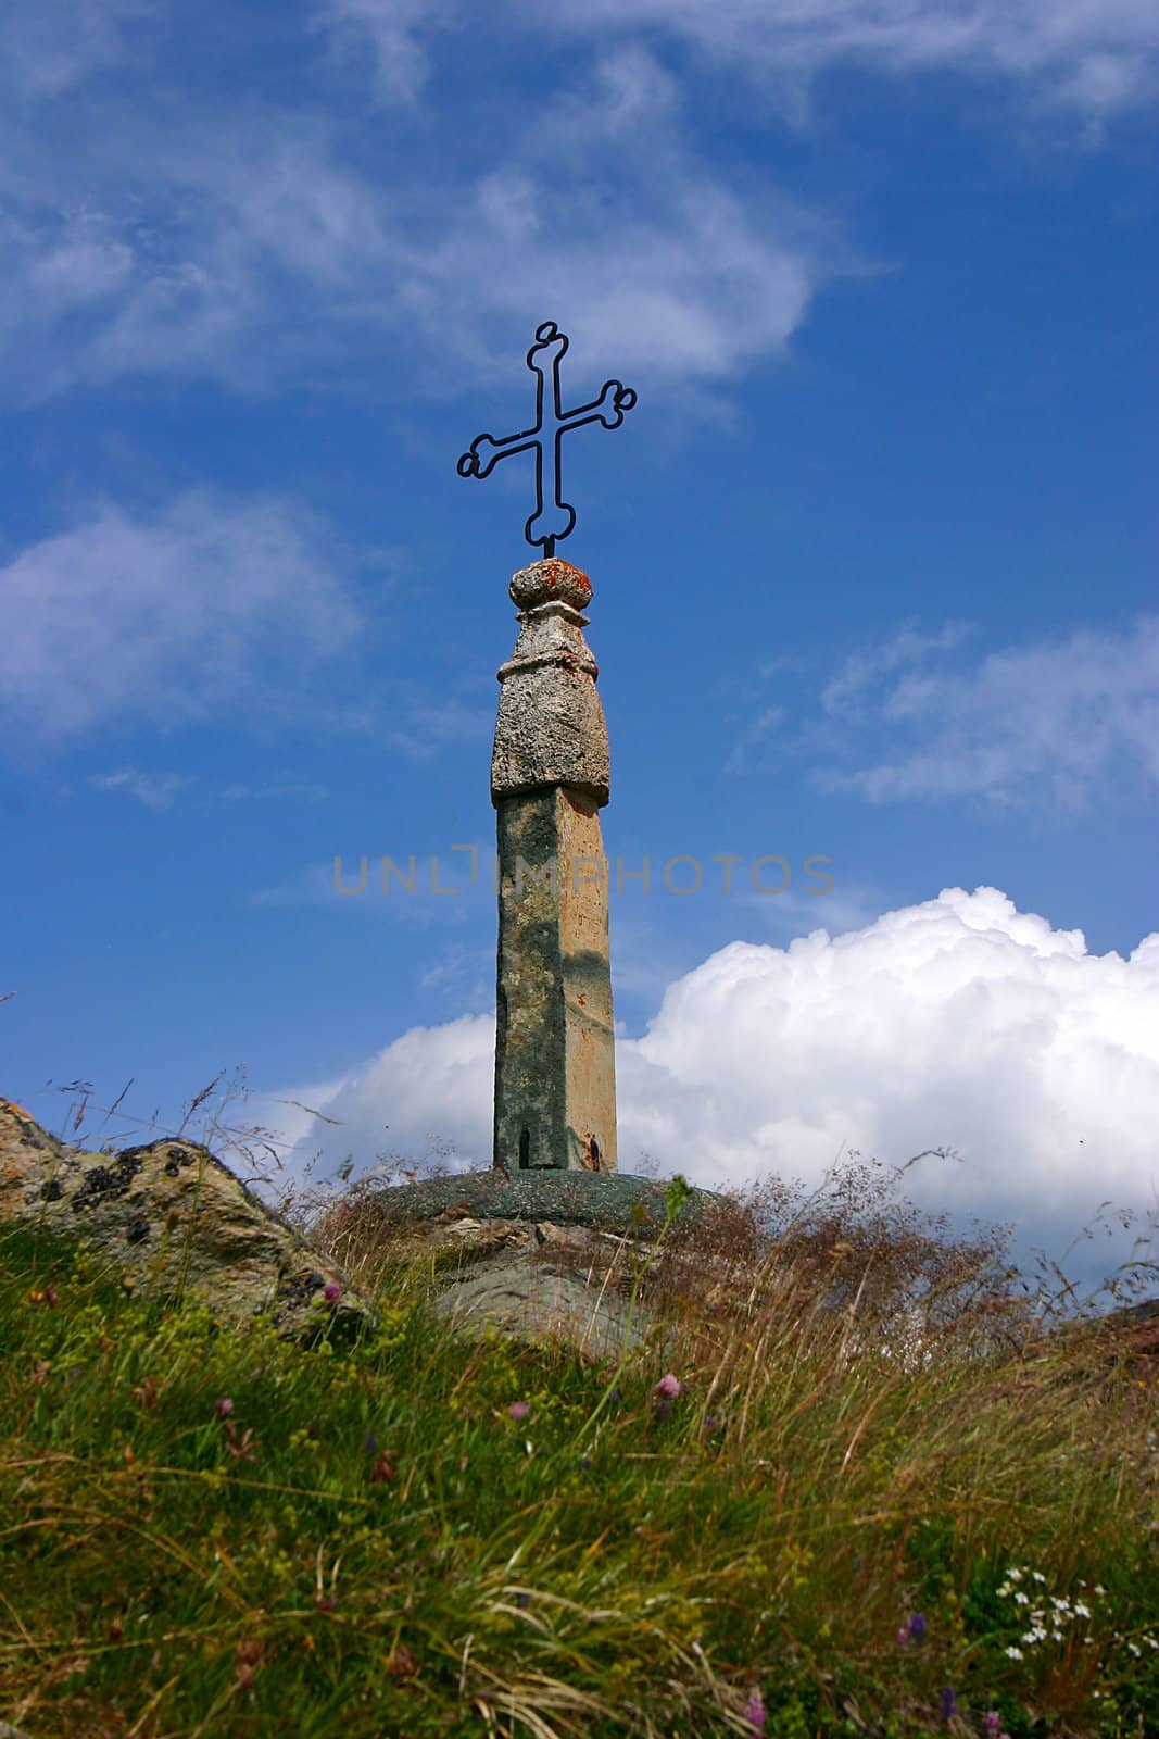
[[[200,1296],[222,1322],[271,1320],[280,1339],[375,1322],[332,1261],[193,1141],[85,1153],[0,1099],[0,1263],[7,1226],[83,1238],[139,1296]]]

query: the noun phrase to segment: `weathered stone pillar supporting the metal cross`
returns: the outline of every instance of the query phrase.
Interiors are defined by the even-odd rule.
[[[499,671],[495,1167],[613,1172],[608,729],[584,640],[586,574],[558,556],[511,581],[520,640]]]

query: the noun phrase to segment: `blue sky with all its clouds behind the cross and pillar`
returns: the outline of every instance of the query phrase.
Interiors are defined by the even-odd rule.
[[[488,1163],[532,478],[455,461],[527,426],[556,320],[566,403],[638,393],[566,438],[558,551],[605,845],[652,864],[612,896],[620,1169],[952,1148],[919,1207],[1027,1271],[1124,1261],[1159,1202],[1149,0],[10,0],[0,83],[0,1090],[61,1129],[90,1083],[123,1144],[245,1083],[278,1188]],[[1105,1200],[1138,1223],[1083,1240]]]

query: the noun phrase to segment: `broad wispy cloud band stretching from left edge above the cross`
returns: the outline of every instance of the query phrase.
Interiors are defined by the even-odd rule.
[[[401,40],[410,10],[346,7],[342,40],[358,19]],[[712,383],[782,350],[817,290],[860,270],[824,214],[709,165],[685,90],[636,43],[513,106],[485,160],[436,150],[426,113],[400,122],[389,183],[349,160],[318,96],[212,115],[137,96],[78,99],[38,150],[0,118],[17,398],[132,374],[266,391],[288,369],[365,379],[368,356],[394,391],[417,362],[447,391],[497,370],[544,308],[593,370]]]

